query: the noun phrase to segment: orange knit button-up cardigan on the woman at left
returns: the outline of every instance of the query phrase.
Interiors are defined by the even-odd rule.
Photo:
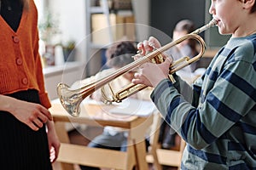
[[[36,89],[41,104],[49,108],[38,40],[38,11],[33,0],[23,10],[16,32],[0,16],[0,94]]]

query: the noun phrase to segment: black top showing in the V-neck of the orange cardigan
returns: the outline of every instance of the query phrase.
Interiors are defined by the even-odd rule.
[[[23,9],[22,0],[0,0],[0,6],[0,15],[14,31],[17,31]]]

